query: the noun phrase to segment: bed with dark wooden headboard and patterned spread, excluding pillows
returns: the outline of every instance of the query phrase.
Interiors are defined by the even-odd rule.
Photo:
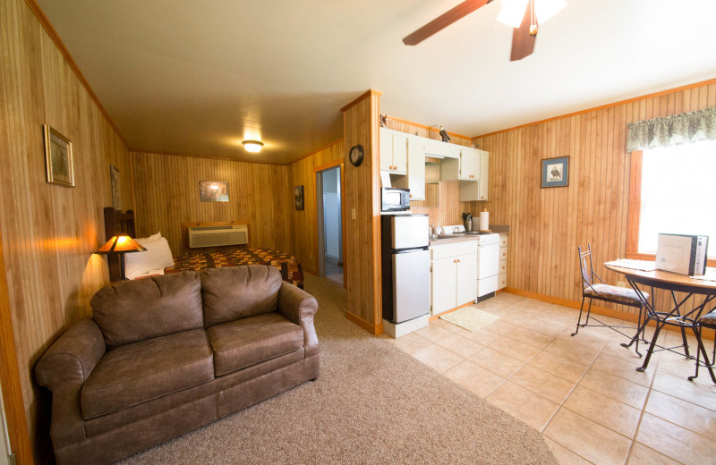
[[[113,207],[105,208],[105,231],[107,232],[107,240],[117,232],[126,232],[131,237],[136,237],[134,212],[132,210],[122,212],[115,210]],[[166,274],[185,270],[242,265],[274,266],[281,272],[281,277],[284,281],[303,289],[303,269],[298,260],[285,252],[272,249],[245,248],[230,251],[201,249],[198,252],[185,253],[182,257],[175,257],[174,266],[167,266],[160,269],[160,271]],[[111,281],[119,279],[118,257],[110,257],[109,278]]]

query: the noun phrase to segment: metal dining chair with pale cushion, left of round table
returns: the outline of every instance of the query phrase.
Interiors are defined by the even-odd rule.
[[[626,287],[610,286],[609,284],[604,283],[604,280],[601,279],[599,275],[594,273],[594,267],[592,266],[592,244],[587,244],[587,250],[585,252],[582,251],[582,246],[577,246],[576,249],[579,258],[579,268],[582,279],[582,306],[579,308],[579,319],[576,322],[576,330],[574,333],[572,333],[572,335],[574,336],[579,333],[580,326],[606,326],[610,329],[613,329],[618,334],[623,334],[626,337],[631,337],[630,342],[622,342],[621,345],[622,347],[631,347],[631,345],[636,342],[635,351],[636,354],[641,357],[642,354],[639,352],[639,341],[641,340],[642,342],[647,342],[642,336],[642,334],[644,334],[645,326],[642,325],[642,319],[644,317],[644,303],[633,289],[628,289]],[[599,280],[599,283],[595,281],[595,278]],[[644,299],[648,299],[649,294],[646,292],[643,293]],[[581,323],[582,313],[584,312],[584,300],[587,299],[589,299],[589,306],[587,307],[587,315],[584,321],[584,325],[582,325]],[[592,313],[592,300],[618,303],[621,305],[627,305],[629,307],[635,307],[636,309],[639,309],[639,321],[635,328],[636,334],[634,335],[634,337],[628,334],[624,334],[618,330],[618,328],[634,329],[633,326],[607,325],[606,323],[601,322],[596,317],[592,317],[592,320],[596,321],[597,325],[589,325],[589,318],[590,314]]]

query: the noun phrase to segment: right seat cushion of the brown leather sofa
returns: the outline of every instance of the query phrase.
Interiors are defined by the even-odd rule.
[[[303,329],[278,313],[211,326],[214,373],[226,375],[303,347]]]

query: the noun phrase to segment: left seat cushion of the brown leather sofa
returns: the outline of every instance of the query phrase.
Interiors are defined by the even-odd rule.
[[[82,416],[98,417],[213,378],[203,329],[125,344],[108,351],[82,387]]]

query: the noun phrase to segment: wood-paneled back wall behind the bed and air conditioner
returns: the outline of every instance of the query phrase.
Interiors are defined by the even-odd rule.
[[[288,166],[132,152],[137,234],[161,232],[175,257],[182,223],[247,221],[251,247],[291,249]],[[201,202],[200,181],[227,181],[228,202]],[[293,206],[293,202],[291,203]]]

